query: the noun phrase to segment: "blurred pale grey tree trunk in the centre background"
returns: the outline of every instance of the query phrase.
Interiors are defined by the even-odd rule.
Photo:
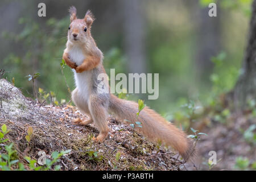
[[[143,1],[125,0],[121,1],[121,6],[125,15],[123,28],[128,71],[130,73],[145,73]]]

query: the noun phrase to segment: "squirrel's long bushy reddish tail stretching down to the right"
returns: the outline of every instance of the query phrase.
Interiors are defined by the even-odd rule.
[[[122,100],[111,95],[109,109],[122,120],[141,122],[142,127],[136,127],[136,129],[151,140],[161,140],[164,144],[175,148],[184,160],[188,160],[189,156],[193,155],[193,142],[187,139],[187,135],[149,107],[144,107],[137,118],[138,104],[136,102]]]

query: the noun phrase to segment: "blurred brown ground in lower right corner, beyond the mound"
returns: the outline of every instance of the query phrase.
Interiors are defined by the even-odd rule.
[[[196,166],[204,170],[256,169],[256,117],[251,110],[230,113],[217,121],[215,115],[204,115],[208,121],[200,132],[207,133],[197,144]],[[209,167],[210,151],[216,152],[216,165]]]

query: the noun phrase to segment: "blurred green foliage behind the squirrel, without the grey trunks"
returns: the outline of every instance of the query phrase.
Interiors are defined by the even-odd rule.
[[[210,2],[216,2],[218,11],[221,11],[218,36],[221,39],[222,50],[216,55],[210,55],[212,69],[201,77],[197,74],[199,69],[195,57],[201,35],[197,28],[197,20],[191,19],[196,12],[191,10],[187,2],[173,1],[173,7],[168,1],[146,3],[147,24],[144,30],[147,72],[159,73],[159,99],[147,100],[147,96],[135,94],[129,99],[142,98],[148,106],[167,118],[172,118],[175,112],[181,109],[181,105],[188,103],[189,100],[200,105],[214,104],[218,94],[233,88],[245,49],[251,1],[200,0],[195,1],[195,6],[199,7],[197,10],[207,9]],[[6,2],[2,3],[7,5]],[[28,5],[26,2],[23,3]],[[36,2],[33,5],[36,5]],[[79,5],[79,2],[75,5]],[[67,6],[70,6],[69,3]],[[9,72],[6,74],[7,80],[11,81],[14,78],[15,86],[21,88],[26,96],[33,97],[32,84],[26,76],[40,73],[36,78],[37,89],[40,87],[46,92],[54,92],[59,101],[69,101],[68,88],[61,75],[60,66],[67,41],[69,17],[67,10],[55,13],[56,15],[40,20],[36,15],[31,16],[30,11],[24,12],[22,17],[16,20],[15,27],[18,31],[3,30],[1,40],[8,42],[13,48],[2,46],[4,56],[0,67]],[[94,11],[94,14],[101,15],[97,11]],[[115,73],[128,73],[126,68],[129,60],[122,46],[123,32],[115,27],[115,30],[111,31],[104,29],[102,21],[99,20],[101,24],[97,21],[92,28],[92,34],[98,47],[104,52],[106,72],[109,73],[110,68],[115,68]],[[71,69],[65,67],[63,71],[69,87],[71,90],[74,89]]]

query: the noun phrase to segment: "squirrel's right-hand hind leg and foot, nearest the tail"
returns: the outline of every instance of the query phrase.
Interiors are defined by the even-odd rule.
[[[100,131],[100,134],[94,140],[96,142],[102,142],[109,134],[108,122],[106,120],[108,115],[107,108],[99,103],[97,97],[90,97],[89,110],[94,124]]]

